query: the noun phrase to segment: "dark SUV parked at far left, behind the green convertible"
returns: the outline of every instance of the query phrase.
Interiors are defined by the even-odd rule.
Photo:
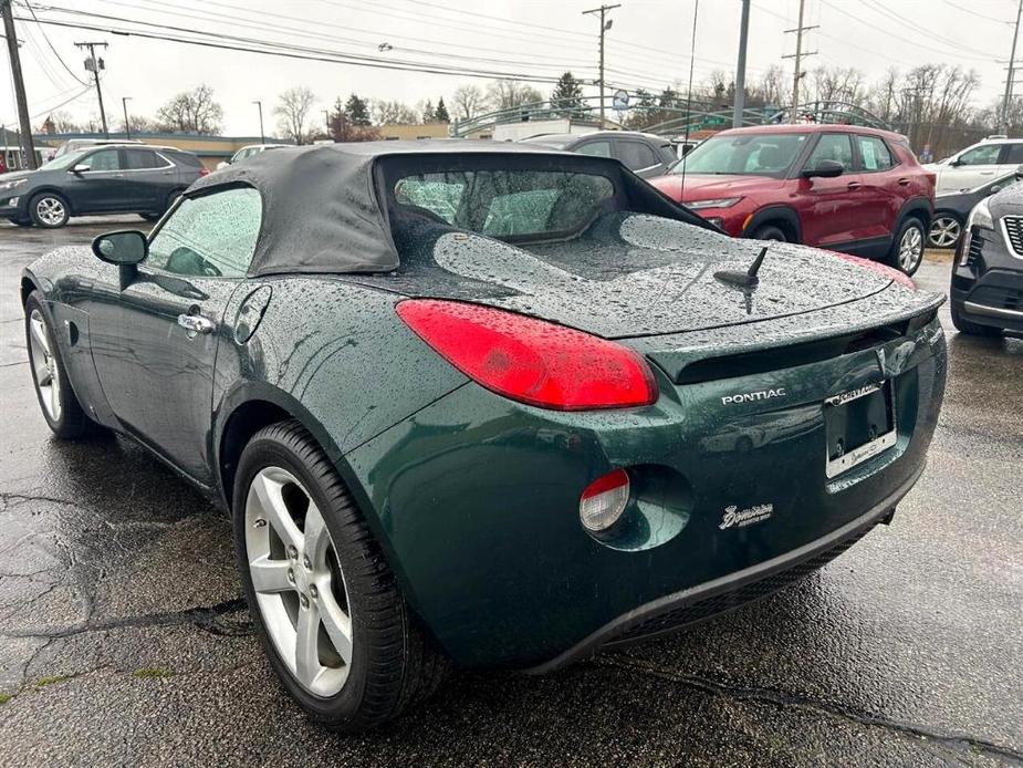
[[[138,214],[156,220],[209,170],[188,152],[146,145],[79,149],[38,170],[7,174],[0,217],[20,227],[63,227],[72,216]]]

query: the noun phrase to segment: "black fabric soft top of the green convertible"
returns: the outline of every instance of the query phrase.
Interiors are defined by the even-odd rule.
[[[194,197],[244,184],[262,197],[263,217],[250,277],[281,273],[388,272],[399,258],[390,227],[377,199],[374,166],[386,156],[434,157],[486,154],[533,157],[583,156],[540,145],[469,141],[362,142],[281,147],[198,179],[186,193]],[[656,193],[617,160],[586,157],[591,167],[609,164],[629,187],[630,207],[641,212],[702,224],[692,214]],[[598,165],[601,164],[601,165]],[[639,185],[639,186],[636,186]],[[708,226],[708,225],[703,225]]]

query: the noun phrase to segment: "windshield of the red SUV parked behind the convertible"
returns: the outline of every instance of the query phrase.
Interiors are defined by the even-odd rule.
[[[781,178],[808,134],[732,134],[713,136],[695,147],[670,173],[772,176]]]

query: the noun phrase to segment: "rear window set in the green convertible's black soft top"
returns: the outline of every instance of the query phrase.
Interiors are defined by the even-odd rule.
[[[587,227],[615,186],[599,174],[477,169],[401,176],[388,191],[393,226],[432,220],[495,238],[544,240]]]

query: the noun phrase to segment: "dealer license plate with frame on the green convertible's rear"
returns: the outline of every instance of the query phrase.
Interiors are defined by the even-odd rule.
[[[888,381],[867,384],[824,401],[827,463],[835,477],[887,450],[896,443],[895,399]]]

